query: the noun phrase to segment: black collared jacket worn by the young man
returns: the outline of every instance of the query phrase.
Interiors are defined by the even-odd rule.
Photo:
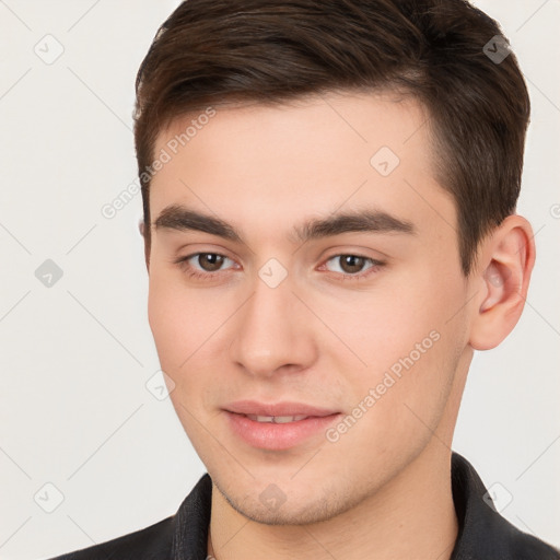
[[[559,550],[522,533],[488,505],[480,477],[457,453],[452,456],[452,488],[459,530],[451,560],[560,559]],[[51,560],[206,560],[211,495],[206,474],[175,515]]]

